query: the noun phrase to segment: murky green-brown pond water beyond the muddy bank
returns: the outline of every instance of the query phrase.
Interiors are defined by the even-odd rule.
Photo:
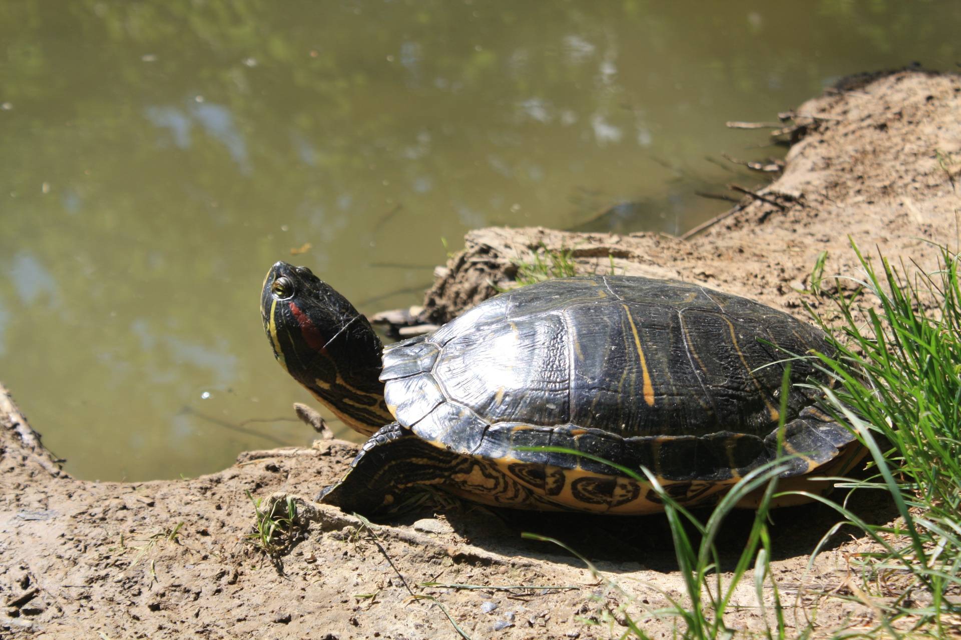
[[[275,260],[374,312],[472,227],[682,231],[777,153],[726,120],[961,60],[956,2],[682,5],[0,3],[0,380],[82,478],[307,444]]]

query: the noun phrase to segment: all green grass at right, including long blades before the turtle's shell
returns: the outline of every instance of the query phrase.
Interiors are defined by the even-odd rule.
[[[652,610],[581,557],[622,603],[617,610],[610,610],[607,601],[600,599],[597,614],[585,623],[607,622],[613,631],[616,620],[626,628],[620,637],[646,639],[649,635],[643,626],[629,615],[631,610],[640,610],[645,616],[672,622],[674,637],[684,639],[961,636],[958,256],[941,249],[939,269],[924,273],[914,266],[910,270],[913,275],[908,277],[904,265],[896,270],[882,258],[875,270],[872,261],[853,244],[852,249],[864,272],[853,294],[850,288],[846,293],[837,286],[833,294],[825,296],[826,254],[818,257],[812,286],[804,293],[833,300],[836,305],[839,320],[833,326],[816,318],[831,336],[837,353],[833,357],[807,357],[819,359],[820,366],[835,380],[832,388],[822,388],[825,407],[870,451],[870,476],[859,481],[839,479],[838,486],[849,491],[886,492],[899,518],[894,523],[875,525],[850,510],[847,500],[836,502],[820,495],[794,493],[824,503],[841,517],[812,550],[809,568],[827,539],[845,525],[859,530],[872,543],[869,551],[850,555],[855,579],[844,585],[844,590],[823,597],[864,604],[873,618],[858,621],[855,628],[852,621],[818,620],[816,611],[796,609],[791,616],[794,624],[806,623],[794,627],[785,623],[788,611],[802,604],[785,598],[771,570],[774,549],[768,512],[771,501],[781,495],[776,493],[777,474],[783,463],[780,460],[743,478],[704,522],[672,499],[647,469],[639,474],[618,467],[621,473],[653,486],[663,500],[685,593],[682,599],[663,594],[669,605]],[[784,391],[780,394],[782,403],[787,397]],[[781,415],[786,415],[783,406]],[[741,497],[760,488],[763,498],[743,551],[733,568],[722,568],[715,544],[721,524]],[[693,536],[688,533],[692,531],[696,533]],[[528,535],[564,546],[550,538]],[[752,581],[757,597],[755,610],[763,624],[759,632],[735,632],[727,623],[734,590],[742,581]],[[773,598],[773,605],[765,605],[767,597]]]

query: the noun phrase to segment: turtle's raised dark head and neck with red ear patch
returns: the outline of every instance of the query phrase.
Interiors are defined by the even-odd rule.
[[[370,436],[393,420],[378,380],[381,340],[331,285],[278,262],[263,281],[260,314],[277,362],[345,424]]]

